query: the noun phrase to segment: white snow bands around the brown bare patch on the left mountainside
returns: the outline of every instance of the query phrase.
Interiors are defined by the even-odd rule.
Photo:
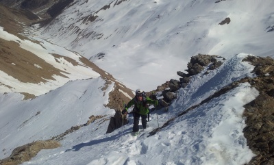
[[[16,79],[16,77],[12,77],[3,71],[0,71],[1,92],[27,92],[38,96],[63,86],[68,81],[88,79],[92,77],[96,78],[100,76],[99,73],[93,71],[90,67],[86,67],[86,65],[81,62],[80,58],[82,57],[79,54],[68,51],[58,45],[53,45],[50,42],[40,38],[36,38],[36,40],[23,40],[17,36],[9,34],[7,31],[4,31],[3,27],[0,27],[0,38],[7,41],[17,42],[21,48],[34,53],[34,55],[37,55],[38,58],[44,60],[48,64],[51,64],[55,68],[60,69],[60,71],[63,71],[63,74],[66,75],[66,77],[53,75],[53,79],[47,79],[45,83],[40,82],[39,84],[34,84],[24,83]],[[62,55],[63,57],[59,58],[57,62],[56,58],[52,55],[53,53]],[[66,61],[64,57],[75,60],[75,62],[78,62],[79,65],[73,65],[71,62]],[[36,67],[40,66],[37,65]]]

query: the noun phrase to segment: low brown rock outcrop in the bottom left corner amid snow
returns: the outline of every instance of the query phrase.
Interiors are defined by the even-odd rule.
[[[29,144],[25,144],[21,147],[17,147],[12,151],[10,157],[1,160],[1,165],[16,165],[23,162],[27,162],[36,156],[42,149],[55,149],[60,147],[60,142],[56,140],[36,141]]]

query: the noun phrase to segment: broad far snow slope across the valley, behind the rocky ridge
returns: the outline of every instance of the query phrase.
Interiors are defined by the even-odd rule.
[[[36,34],[133,90],[178,79],[176,71],[198,53],[274,57],[274,1],[216,1],[75,1]],[[230,23],[219,25],[225,18]]]

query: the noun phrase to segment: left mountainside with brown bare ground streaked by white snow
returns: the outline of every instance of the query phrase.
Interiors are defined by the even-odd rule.
[[[99,75],[120,84],[110,74],[77,53],[44,40],[27,38],[29,32],[25,28],[40,21],[36,14],[3,5],[0,8],[0,26],[3,27],[0,31],[0,69],[6,74],[0,78],[1,92],[21,92],[25,99],[29,99],[58,88],[67,81]],[[18,88],[18,84],[23,88]],[[132,95],[125,86],[120,85],[120,88]],[[127,98],[123,94],[121,97]]]

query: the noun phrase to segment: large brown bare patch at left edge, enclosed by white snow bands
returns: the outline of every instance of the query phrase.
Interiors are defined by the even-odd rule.
[[[34,53],[19,47],[17,42],[0,38],[0,70],[24,83],[38,84],[53,79],[63,71],[53,67]]]

